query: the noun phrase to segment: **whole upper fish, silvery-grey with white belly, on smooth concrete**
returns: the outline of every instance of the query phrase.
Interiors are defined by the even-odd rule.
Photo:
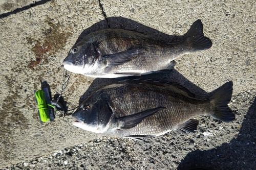
[[[93,32],[75,44],[64,59],[64,67],[78,74],[99,78],[116,78],[150,74],[171,68],[177,57],[207,50],[212,45],[204,37],[201,20],[197,20],[177,43],[123,29]]]

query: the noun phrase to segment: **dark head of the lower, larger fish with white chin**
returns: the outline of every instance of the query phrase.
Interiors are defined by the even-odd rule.
[[[112,114],[108,102],[104,100],[82,103],[72,114],[75,119],[73,125],[86,131],[103,133],[108,128]]]

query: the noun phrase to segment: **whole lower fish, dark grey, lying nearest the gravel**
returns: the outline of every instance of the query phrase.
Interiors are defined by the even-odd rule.
[[[134,139],[177,129],[193,132],[198,125],[193,119],[196,116],[233,120],[234,114],[227,106],[231,94],[232,82],[201,100],[177,83],[124,81],[96,90],[73,113],[73,125],[106,136]]]

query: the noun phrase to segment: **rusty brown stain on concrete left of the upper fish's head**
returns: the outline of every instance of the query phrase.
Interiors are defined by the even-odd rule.
[[[60,22],[54,21],[54,19],[47,18],[45,22],[50,26],[44,34],[44,40],[36,40],[33,37],[27,37],[28,43],[35,45],[31,48],[31,51],[35,54],[35,60],[31,60],[28,64],[28,68],[36,70],[34,67],[40,64],[42,60],[44,63],[48,63],[48,56],[54,56],[66,45],[68,38],[72,35],[70,32],[61,32],[64,26]]]

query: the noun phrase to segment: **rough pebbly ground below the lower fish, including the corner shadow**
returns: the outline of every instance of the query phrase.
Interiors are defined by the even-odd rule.
[[[196,133],[169,132],[148,143],[99,136],[3,169],[254,169],[255,95],[252,89],[232,97],[231,123],[201,116]]]

